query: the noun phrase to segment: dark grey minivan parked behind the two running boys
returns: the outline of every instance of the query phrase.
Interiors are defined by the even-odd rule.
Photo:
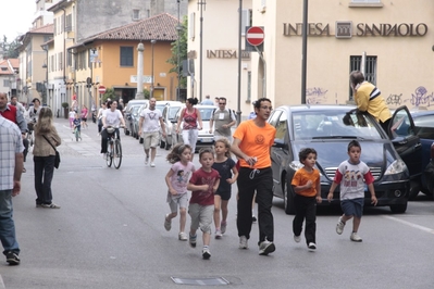
[[[393,141],[377,122],[369,114],[357,112],[351,105],[296,105],[280,106],[272,112],[269,123],[276,128],[271,150],[274,196],[284,199],[285,212],[294,214],[294,189],[290,185],[295,172],[302,167],[298,160],[301,148],[311,147],[318,152],[317,168],[321,174],[322,205],[326,200],[337,166],[348,159],[350,140],[361,144],[364,161],[374,177],[379,206],[389,206],[394,213],[407,210],[410,190],[409,167],[397,153]],[[405,160],[418,153],[419,138],[409,136],[406,143],[398,146]],[[416,152],[411,153],[413,150]],[[371,196],[365,188],[365,205],[371,205]],[[339,189],[334,193],[332,204],[339,204]]]

